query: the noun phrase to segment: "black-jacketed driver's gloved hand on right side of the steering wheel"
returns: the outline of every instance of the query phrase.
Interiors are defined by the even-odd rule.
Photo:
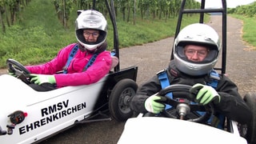
[[[218,104],[221,101],[220,95],[213,87],[202,85],[200,83],[195,84],[190,88],[190,97],[194,98],[195,102],[202,105],[206,105],[210,102]]]

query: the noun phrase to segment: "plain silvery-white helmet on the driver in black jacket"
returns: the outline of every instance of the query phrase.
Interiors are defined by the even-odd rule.
[[[206,46],[209,53],[202,62],[192,62],[186,58],[184,47],[186,45]],[[194,23],[184,27],[174,40],[174,63],[178,70],[192,76],[208,74],[214,69],[222,46],[218,33],[210,26]]]

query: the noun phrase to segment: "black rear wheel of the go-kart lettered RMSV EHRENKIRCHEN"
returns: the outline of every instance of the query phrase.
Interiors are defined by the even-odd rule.
[[[130,99],[137,89],[137,83],[129,78],[122,79],[114,86],[110,94],[109,109],[115,120],[123,122],[134,115],[134,111],[130,109]]]

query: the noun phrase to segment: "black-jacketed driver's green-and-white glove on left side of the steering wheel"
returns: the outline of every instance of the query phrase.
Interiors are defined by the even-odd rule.
[[[152,95],[149,98],[147,98],[145,101],[146,110],[154,114],[160,113],[162,110],[164,110],[165,105],[160,102],[156,102],[156,100],[161,101],[161,99],[162,97],[157,95]]]

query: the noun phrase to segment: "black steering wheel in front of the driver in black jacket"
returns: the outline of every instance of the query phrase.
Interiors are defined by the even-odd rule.
[[[161,100],[162,103],[170,105],[175,109],[177,109],[177,106],[180,104],[186,104],[186,106],[189,106],[190,112],[196,112],[196,111],[205,112],[204,114],[199,115],[198,118],[189,118],[189,119],[186,119],[186,121],[199,122],[199,123],[206,122],[207,120],[209,120],[210,116],[214,114],[214,108],[212,105],[202,106],[194,102],[194,99],[190,98],[190,88],[191,86],[182,85],[182,84],[170,85],[170,86],[167,86],[165,89],[160,90],[157,95],[164,97],[164,100]],[[170,92],[172,93],[173,98],[170,98],[166,95]],[[182,99],[182,101],[179,101],[180,99]],[[184,99],[186,99],[187,102],[184,102]],[[168,110],[163,110],[162,115],[165,116],[166,118],[178,118],[178,116],[175,116],[174,114],[170,114]]]

